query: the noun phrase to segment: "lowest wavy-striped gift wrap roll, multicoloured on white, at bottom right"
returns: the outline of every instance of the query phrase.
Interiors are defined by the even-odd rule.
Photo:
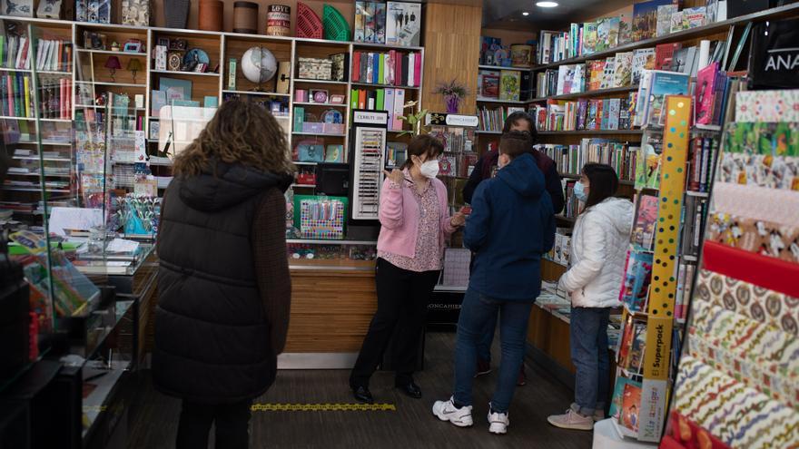
[[[683,356],[674,406],[678,413],[731,447],[799,447],[799,414],[754,388]]]

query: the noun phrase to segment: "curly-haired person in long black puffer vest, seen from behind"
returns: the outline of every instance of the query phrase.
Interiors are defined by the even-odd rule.
[[[271,386],[291,307],[281,126],[224,102],[174,161],[158,233],[153,384],[182,398],[177,444],[249,445],[252,399]]]

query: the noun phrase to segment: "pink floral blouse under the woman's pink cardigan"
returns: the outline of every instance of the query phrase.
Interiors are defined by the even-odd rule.
[[[378,251],[378,257],[385,259],[391,265],[409,271],[433,271],[442,267],[439,251],[439,227],[441,210],[439,197],[433,183],[429,182],[427,189],[419,193],[412,185],[405,189],[413,191],[413,197],[419,205],[419,230],[416,240],[416,257],[409,258],[387,251]]]

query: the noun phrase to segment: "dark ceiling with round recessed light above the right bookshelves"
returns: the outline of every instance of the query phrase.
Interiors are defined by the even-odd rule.
[[[483,26],[507,30],[563,30],[572,22],[605,15],[629,5],[629,0],[556,0],[555,8],[540,8],[536,0],[483,0]],[[530,13],[528,16],[523,12]]]

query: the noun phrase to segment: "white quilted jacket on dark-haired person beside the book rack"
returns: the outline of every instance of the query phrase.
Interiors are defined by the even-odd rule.
[[[608,198],[577,217],[571,262],[560,278],[572,307],[617,307],[626,250],[633,225],[633,203]]]

